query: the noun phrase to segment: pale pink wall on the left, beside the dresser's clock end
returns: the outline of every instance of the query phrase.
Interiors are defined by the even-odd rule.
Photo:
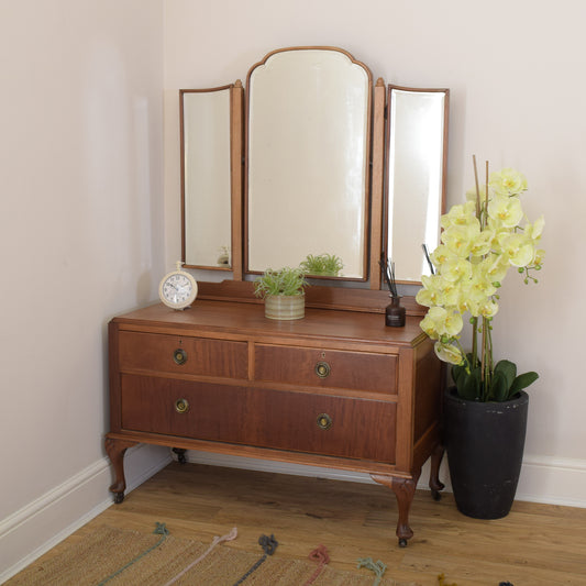
[[[162,22],[0,3],[0,521],[102,458],[106,323],[157,296]]]

